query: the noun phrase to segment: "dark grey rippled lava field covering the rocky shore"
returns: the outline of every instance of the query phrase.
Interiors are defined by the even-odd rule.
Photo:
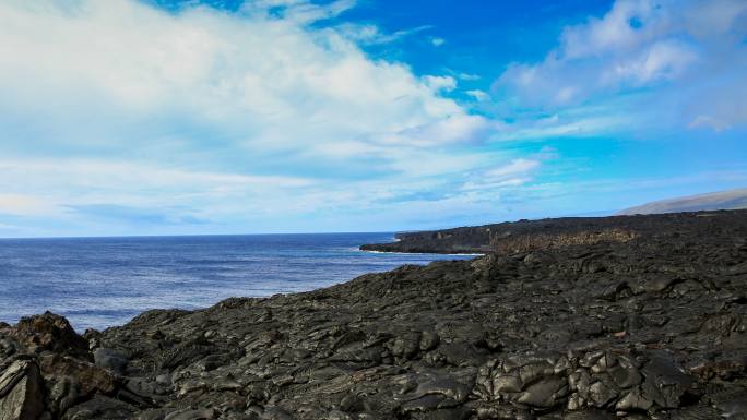
[[[472,261],[84,339],[2,325],[0,419],[747,419],[747,212],[490,229],[428,241]]]

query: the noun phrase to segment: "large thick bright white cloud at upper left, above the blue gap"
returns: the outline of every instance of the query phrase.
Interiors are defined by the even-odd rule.
[[[306,25],[348,2],[248,4],[239,15],[171,15],[130,0],[2,2],[0,50],[13,53],[0,55],[0,108],[50,123],[163,115],[275,149],[466,116],[438,95],[449,80],[418,80],[403,64],[370,60],[335,28]],[[281,17],[263,9],[276,4],[286,7]],[[78,129],[80,142],[138,142]]]

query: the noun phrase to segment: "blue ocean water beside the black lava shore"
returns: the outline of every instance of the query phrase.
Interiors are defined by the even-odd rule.
[[[149,309],[307,291],[463,255],[358,251],[391,233],[0,239],[0,321],[52,311],[78,331]]]

